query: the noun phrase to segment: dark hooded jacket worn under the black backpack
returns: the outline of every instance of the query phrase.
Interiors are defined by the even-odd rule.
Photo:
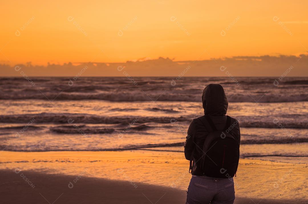
[[[224,88],[222,88],[220,84],[209,84],[206,86],[202,94],[202,104],[204,108],[204,114],[210,116],[210,118],[213,120],[213,123],[215,124],[215,127],[218,130],[224,129],[227,121],[227,116],[225,114],[228,109],[228,100],[225,95]],[[205,121],[205,116],[201,116],[199,119]],[[200,158],[203,154],[202,148],[205,137],[209,134],[209,131],[199,119],[193,119],[193,121],[190,123],[184,146],[185,158],[187,160],[191,159],[193,153],[194,165],[192,174],[196,176],[203,175],[201,169],[202,159]],[[232,117],[230,127],[232,127],[232,129],[230,129],[229,133],[235,136],[238,141],[240,141],[240,126],[238,121]]]

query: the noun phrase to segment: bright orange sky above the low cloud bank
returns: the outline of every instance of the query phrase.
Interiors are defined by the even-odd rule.
[[[0,63],[11,65],[298,55],[308,47],[308,1],[1,1],[0,7]]]

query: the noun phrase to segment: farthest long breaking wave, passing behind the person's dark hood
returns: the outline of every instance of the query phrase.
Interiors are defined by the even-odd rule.
[[[62,92],[45,92],[44,95],[38,91],[31,91],[29,94],[25,92],[5,92],[0,95],[1,100],[21,100],[21,99],[37,99],[48,100],[57,98],[57,100],[107,100],[107,101],[188,101],[188,102],[200,102],[201,94],[193,94],[190,92],[177,93],[166,92],[158,93],[142,93],[141,91],[132,92],[108,92],[108,93],[67,93]],[[229,102],[258,102],[260,103],[272,103],[272,102],[296,102],[296,101],[308,101],[307,94],[269,94],[269,93],[247,93],[247,94],[227,94]],[[155,110],[154,110],[155,111]]]

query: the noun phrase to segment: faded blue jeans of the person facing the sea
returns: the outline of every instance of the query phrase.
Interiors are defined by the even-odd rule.
[[[233,178],[193,175],[188,186],[186,204],[233,204],[234,199]]]

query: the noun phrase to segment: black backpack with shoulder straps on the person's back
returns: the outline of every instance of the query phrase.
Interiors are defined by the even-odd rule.
[[[205,115],[205,125],[209,134],[205,137],[202,148],[201,166],[203,174],[215,178],[230,178],[236,176],[238,161],[240,158],[240,143],[231,135],[231,118],[227,116],[227,122],[223,130],[217,130],[212,119]]]

